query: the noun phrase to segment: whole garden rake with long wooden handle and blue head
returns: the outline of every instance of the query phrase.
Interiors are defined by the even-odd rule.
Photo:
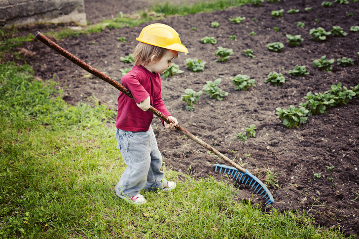
[[[66,59],[70,60],[72,63],[85,69],[86,71],[97,76],[98,78],[108,82],[110,85],[112,85],[113,87],[115,87],[116,89],[118,89],[119,91],[121,91],[122,93],[124,93],[125,95],[130,97],[131,99],[133,99],[131,92],[128,89],[126,89],[122,84],[113,80],[111,77],[102,73],[101,71],[97,70],[96,68],[93,68],[90,65],[88,65],[87,63],[83,62],[82,60],[80,60],[79,58],[72,55],[70,52],[68,52],[67,50],[65,50],[64,48],[62,48],[61,46],[59,46],[52,40],[50,40],[45,35],[41,34],[40,32],[36,32],[35,37],[36,37],[36,39],[38,39],[39,41],[41,41],[42,43],[44,43],[45,45],[47,45],[48,47],[50,47],[51,49],[53,49],[54,51],[59,53],[60,55],[64,56]],[[161,118],[168,124],[174,123],[170,119],[168,119],[167,116],[165,116],[163,113],[161,113],[156,108],[150,106],[148,110],[151,111],[153,114],[157,115],[159,118]],[[230,167],[230,166],[226,166],[226,165],[217,164],[217,165],[215,165],[215,171],[219,170],[219,172],[223,172],[223,173],[227,173],[228,175],[232,175],[234,180],[238,180],[240,183],[243,183],[245,185],[247,185],[247,183],[248,183],[248,185],[251,186],[251,189],[253,189],[256,194],[259,194],[260,196],[263,195],[262,197],[265,198],[265,200],[267,200],[267,202],[266,202],[267,205],[270,205],[274,202],[273,196],[270,193],[269,189],[256,176],[252,175],[249,171],[245,170],[244,168],[242,168],[241,166],[236,164],[233,160],[227,158],[226,156],[221,154],[219,151],[217,151],[215,148],[213,148],[211,145],[202,141],[200,138],[195,137],[194,135],[192,135],[191,133],[189,133],[187,130],[183,129],[179,125],[177,125],[175,128],[176,128],[176,130],[181,132],[186,137],[191,138],[193,141],[195,141],[196,143],[205,147],[210,152],[214,153],[217,157],[219,157],[220,159],[224,160],[225,162],[227,162],[231,166],[233,166],[233,167]]]

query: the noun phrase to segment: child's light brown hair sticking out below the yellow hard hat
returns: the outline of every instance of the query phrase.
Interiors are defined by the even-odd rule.
[[[166,54],[167,51],[172,51],[175,54],[174,59],[178,57],[178,51],[139,42],[133,53],[135,59],[135,66],[148,65],[151,62],[151,58],[153,55],[156,56],[154,62],[158,62]]]

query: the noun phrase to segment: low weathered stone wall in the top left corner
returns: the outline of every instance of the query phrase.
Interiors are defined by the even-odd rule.
[[[86,25],[84,0],[0,0],[0,26],[40,22]]]

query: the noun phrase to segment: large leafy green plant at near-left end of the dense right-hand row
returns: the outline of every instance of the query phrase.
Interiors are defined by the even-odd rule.
[[[307,114],[309,110],[304,107],[296,108],[294,105],[289,105],[289,108],[282,109],[281,107],[277,107],[278,119],[283,120],[283,124],[287,126],[289,129],[292,127],[299,127],[302,124],[307,122]]]

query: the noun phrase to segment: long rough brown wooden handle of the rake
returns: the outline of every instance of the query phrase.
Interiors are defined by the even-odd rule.
[[[66,59],[70,60],[72,63],[76,64],[77,66],[79,66],[80,68],[85,69],[86,71],[90,72],[91,74],[97,76],[98,78],[106,81],[107,83],[109,83],[110,85],[112,85],[113,87],[115,87],[116,89],[118,89],[119,91],[121,91],[122,93],[124,93],[126,96],[130,97],[131,99],[133,99],[133,96],[131,94],[131,92],[126,89],[126,87],[124,87],[122,84],[118,83],[117,81],[115,81],[114,79],[112,79],[111,77],[109,77],[108,75],[102,73],[101,71],[99,71],[96,68],[91,67],[90,65],[88,65],[87,63],[85,63],[84,61],[80,60],[79,58],[77,58],[76,56],[72,55],[70,52],[68,52],[67,50],[65,50],[64,48],[62,48],[61,46],[59,46],[58,44],[56,44],[55,42],[53,42],[52,40],[50,40],[48,37],[46,37],[45,35],[41,34],[40,32],[36,32],[35,33],[35,37],[37,40],[41,41],[42,43],[44,43],[45,45],[47,45],[48,47],[50,47],[52,50],[56,51],[57,53],[59,53],[60,55],[62,55],[63,57],[65,57]],[[161,113],[159,110],[157,110],[156,108],[150,106],[149,111],[151,111],[153,114],[157,115],[159,118],[161,118],[162,120],[164,120],[165,122],[167,122],[168,124],[170,123],[174,123],[173,121],[171,121],[166,115],[164,115],[163,113]],[[202,141],[200,138],[195,137],[194,135],[192,135],[191,133],[189,133],[187,130],[183,129],[182,127],[180,127],[179,125],[177,125],[176,130],[178,130],[179,132],[181,132],[183,135],[185,135],[186,137],[191,138],[193,141],[195,141],[196,143],[200,144],[201,146],[205,147],[206,149],[208,149],[209,151],[211,151],[212,153],[214,153],[216,156],[218,156],[220,159],[226,161],[227,163],[229,163],[231,166],[233,166],[234,168],[236,168],[237,170],[245,173],[246,170],[243,169],[241,166],[239,166],[238,164],[236,164],[233,160],[227,158],[226,156],[224,156],[223,154],[221,154],[218,150],[216,150],[215,148],[213,148],[211,145],[209,145],[208,143]]]

